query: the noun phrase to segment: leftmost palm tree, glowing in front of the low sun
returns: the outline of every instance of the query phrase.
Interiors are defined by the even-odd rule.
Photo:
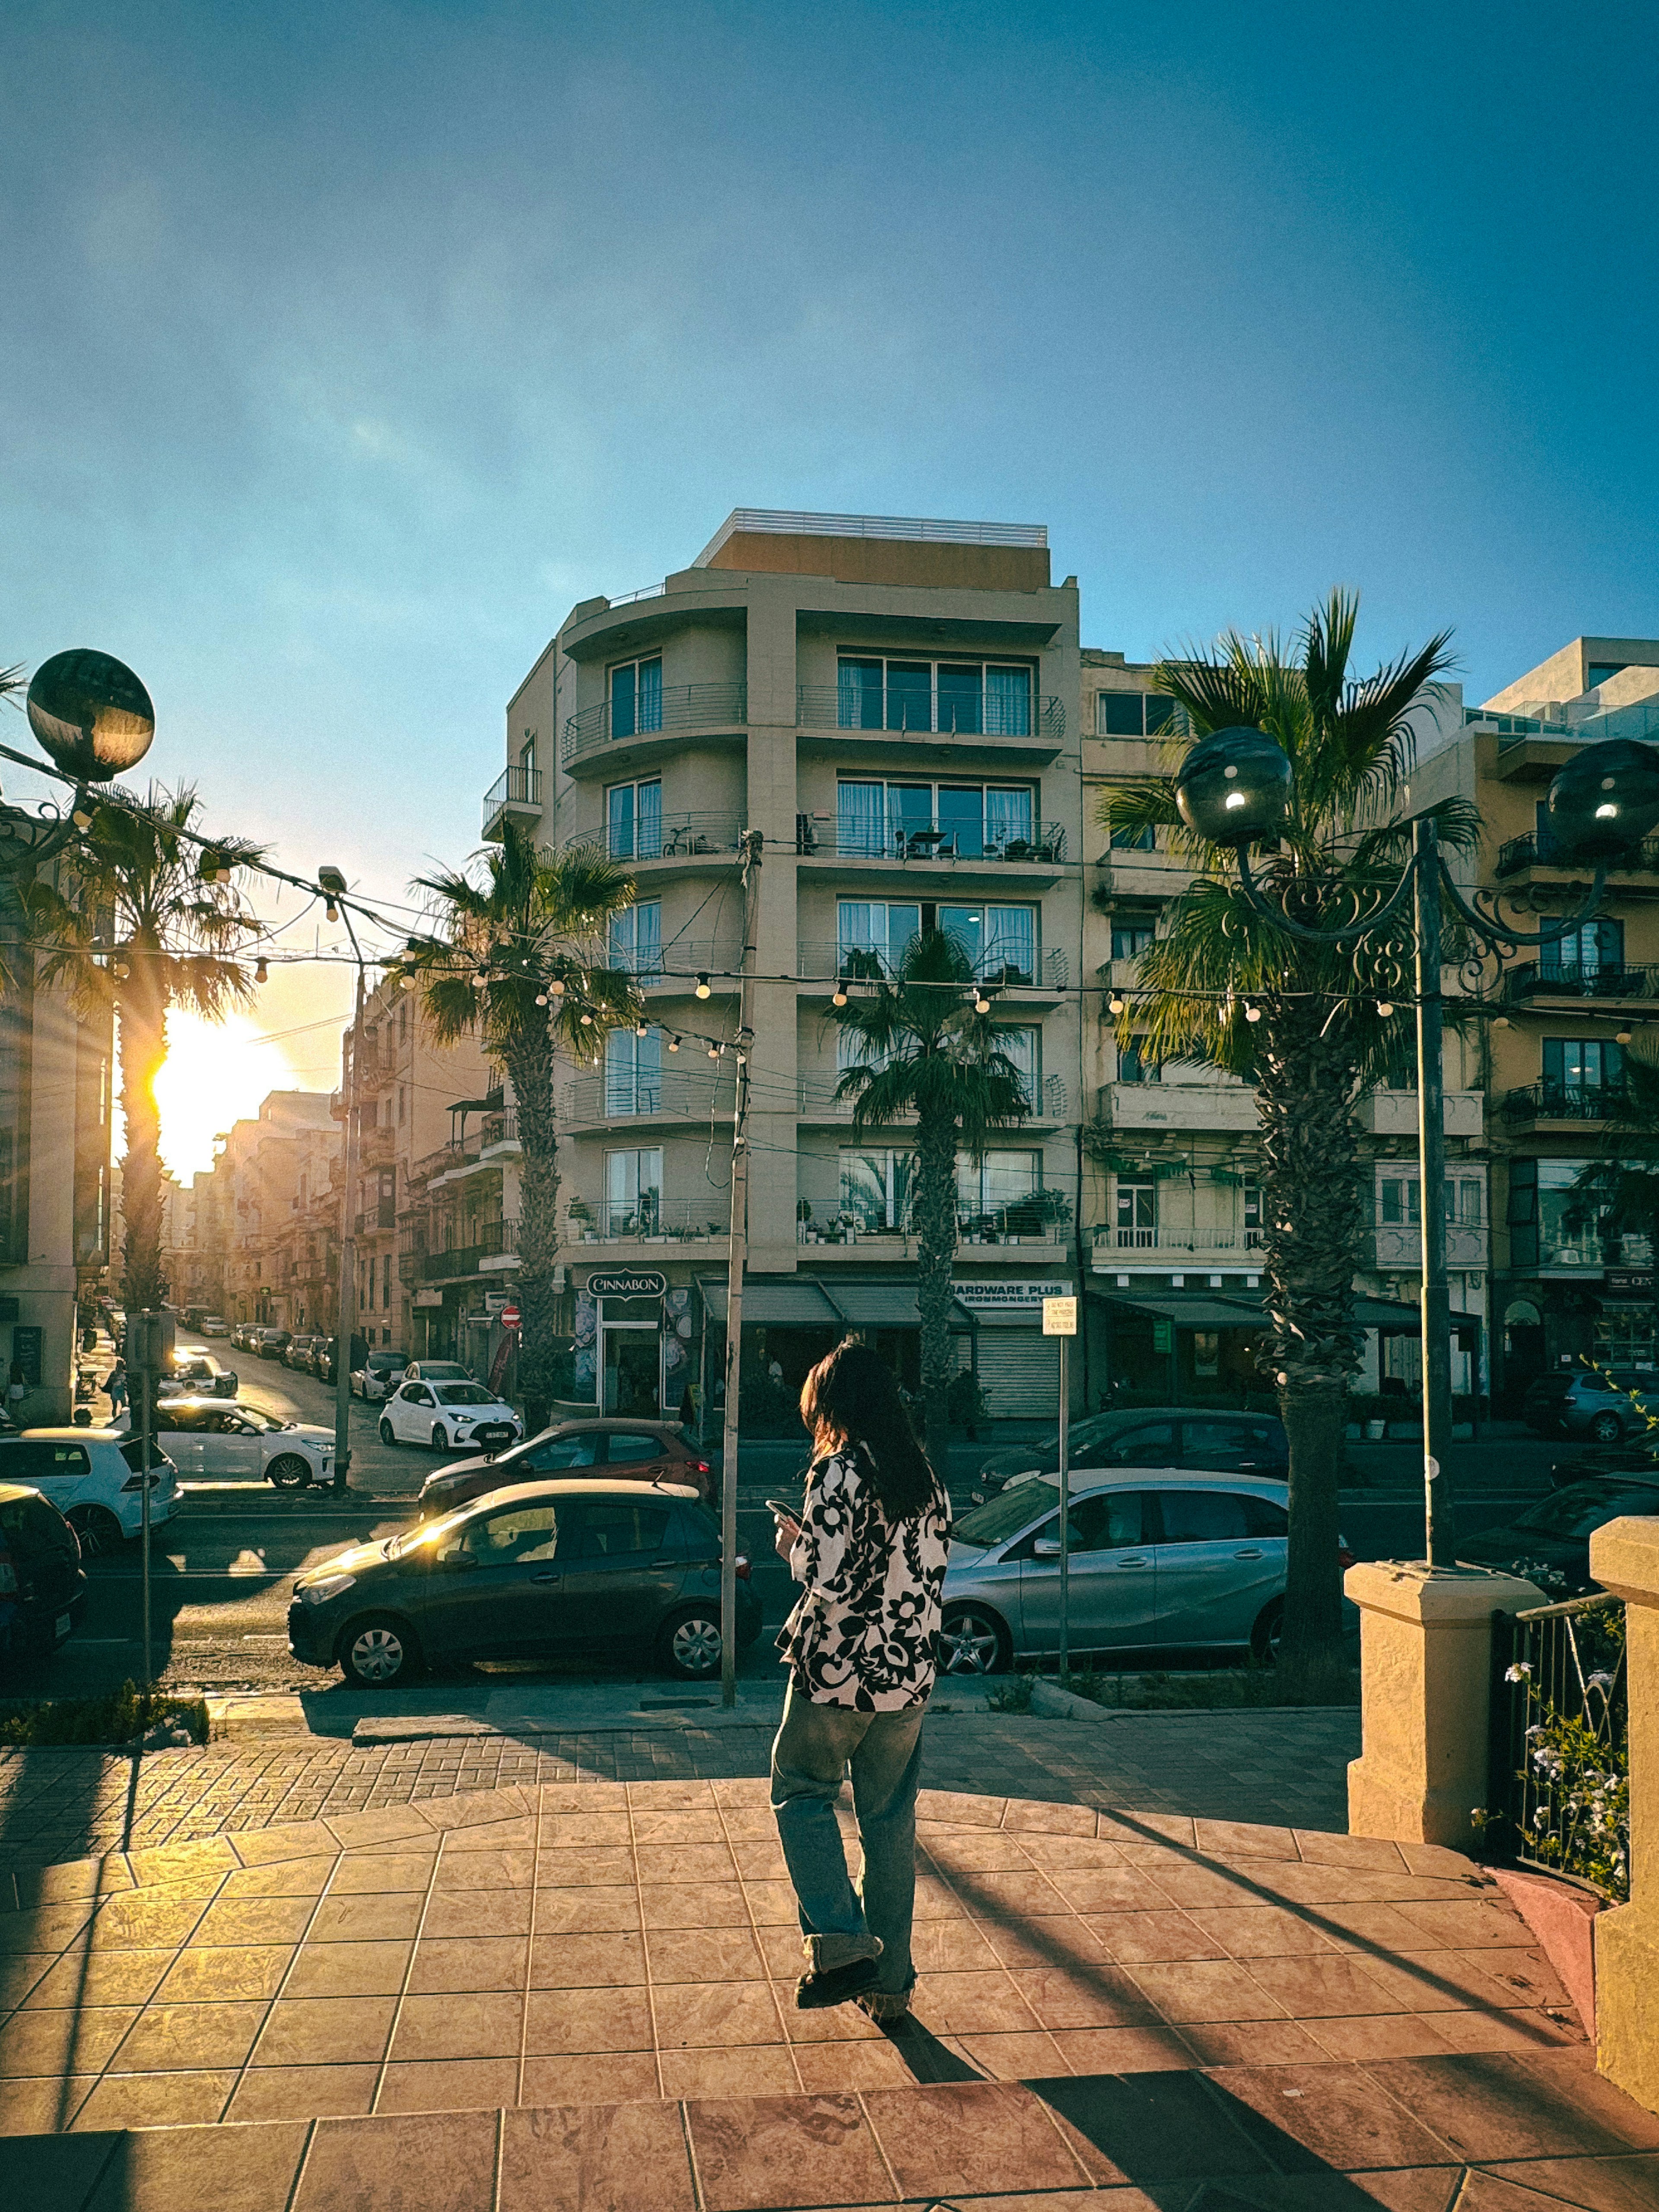
[[[257,860],[259,847],[219,838],[204,852],[184,834],[197,805],[190,785],[166,792],[155,783],[144,801],[104,801],[64,860],[62,883],[38,878],[18,891],[46,942],[42,980],[66,984],[86,1013],[115,1013],[126,1119],[122,1298],[128,1312],[159,1307],[168,1292],[155,1104],[168,1011],[186,1006],[217,1022],[252,998],[234,953],[261,925],[228,878]]]

